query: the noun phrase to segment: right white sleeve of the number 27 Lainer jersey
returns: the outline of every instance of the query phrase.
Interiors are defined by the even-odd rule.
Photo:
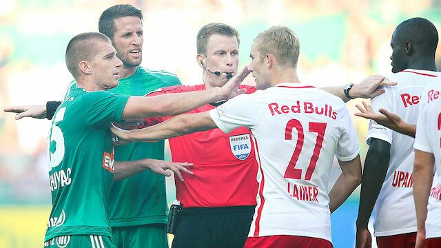
[[[351,161],[360,154],[356,130],[345,106],[342,107],[338,115],[341,133],[337,143],[336,158],[339,161]]]

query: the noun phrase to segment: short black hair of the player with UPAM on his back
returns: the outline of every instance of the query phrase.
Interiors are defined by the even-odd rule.
[[[398,43],[411,41],[412,45],[419,48],[419,52],[434,56],[438,45],[438,31],[431,21],[415,17],[403,21],[396,28],[395,40]]]

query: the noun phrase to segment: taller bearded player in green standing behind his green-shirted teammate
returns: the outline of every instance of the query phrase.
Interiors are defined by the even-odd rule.
[[[170,72],[154,71],[139,66],[143,47],[143,14],[129,4],[107,8],[99,19],[99,31],[110,38],[116,56],[123,62],[119,85],[109,90],[118,94],[143,96],[152,90],[181,85]],[[76,87],[75,81],[67,94]],[[44,116],[46,117],[46,107]],[[29,113],[29,112],[28,112]],[[53,113],[52,113],[53,114]],[[50,114],[50,116],[52,116]],[[136,123],[143,127],[146,123]],[[115,161],[143,158],[164,159],[164,141],[139,142],[114,147]],[[167,201],[164,163],[150,170],[114,183],[110,190],[109,218],[116,247],[159,247],[167,245]],[[155,174],[156,173],[156,174]]]

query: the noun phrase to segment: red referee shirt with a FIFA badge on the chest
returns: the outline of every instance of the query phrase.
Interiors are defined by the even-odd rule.
[[[247,93],[255,87],[245,87]],[[205,90],[205,85],[175,85],[161,88],[147,96]],[[207,104],[188,113],[205,112],[216,106]],[[147,125],[172,118],[147,118]],[[240,127],[229,134],[213,129],[169,139],[172,160],[194,165],[194,174],[183,173],[184,181],[175,178],[176,198],[184,207],[233,207],[256,205],[257,163],[249,130]]]

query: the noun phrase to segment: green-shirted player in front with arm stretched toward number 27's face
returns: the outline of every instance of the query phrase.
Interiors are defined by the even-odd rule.
[[[248,71],[227,85],[205,92],[167,96],[127,96],[107,92],[118,85],[123,63],[101,33],[74,37],[66,65],[76,86],[54,114],[49,134],[52,211],[46,247],[115,247],[109,221],[112,178],[121,180],[147,169],[152,160],[116,162],[107,124],[127,118],[170,116],[243,93],[238,85]],[[182,164],[176,166],[189,172]],[[189,172],[191,173],[191,172]],[[143,188],[143,185],[137,185]]]

